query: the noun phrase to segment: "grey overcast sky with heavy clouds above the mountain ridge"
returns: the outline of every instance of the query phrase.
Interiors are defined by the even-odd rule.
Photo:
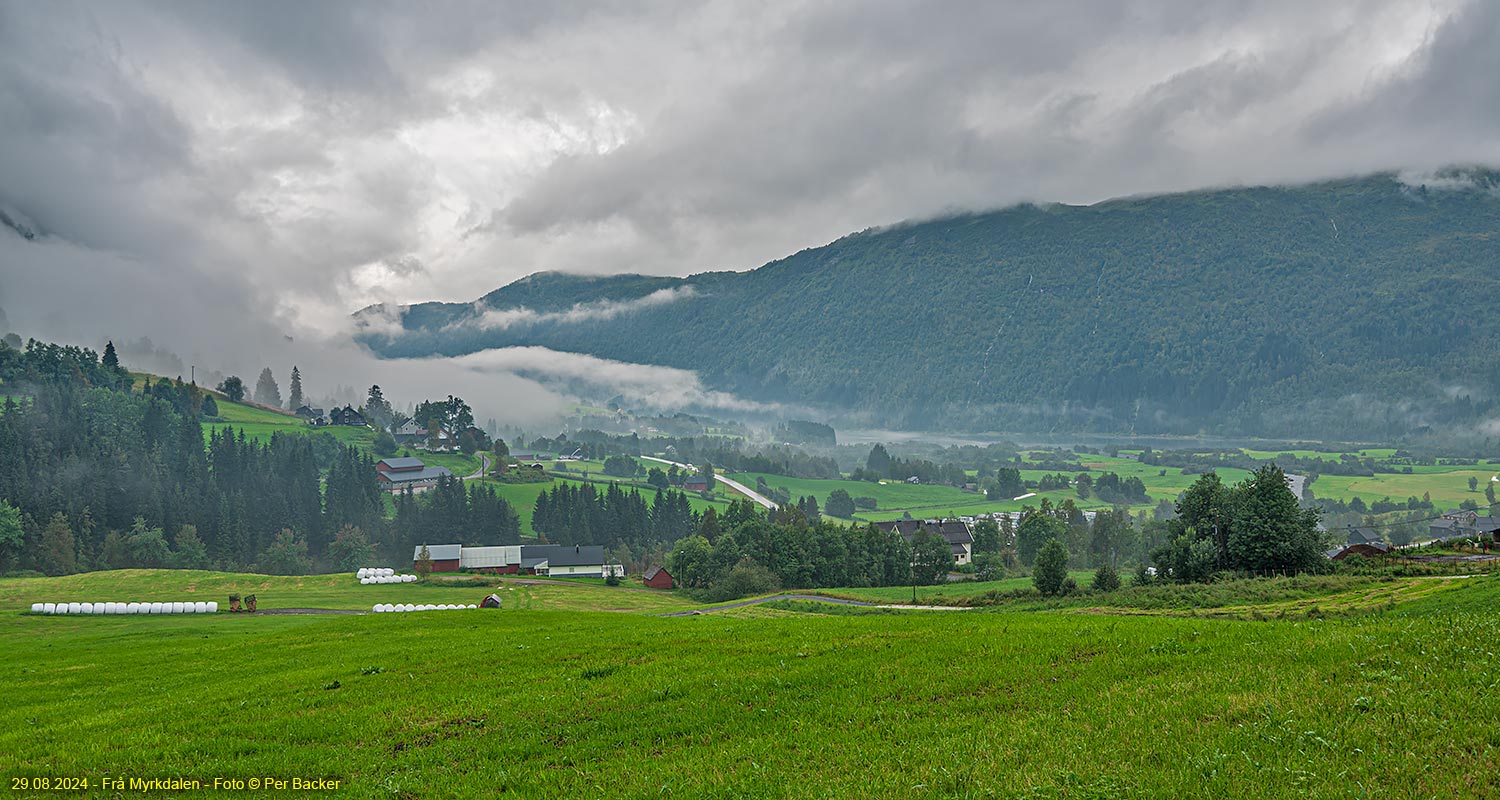
[[[0,0],[0,212],[39,234],[0,228],[0,308],[189,356],[537,270],[1500,164],[1497,42],[1461,0]]]

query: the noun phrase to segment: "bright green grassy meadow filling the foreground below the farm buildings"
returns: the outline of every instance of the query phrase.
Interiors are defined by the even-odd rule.
[[[326,776],[350,797],[1500,794],[1500,578],[1294,594],[1318,590],[1266,621],[1138,615],[1110,596],[662,618],[693,606],[520,582],[502,611],[38,617],[22,611],[45,599],[258,591],[262,609],[368,608],[489,588],[4,579],[0,771]]]

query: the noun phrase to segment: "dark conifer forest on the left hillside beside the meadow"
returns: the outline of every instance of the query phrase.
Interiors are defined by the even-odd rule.
[[[267,441],[201,420],[213,396],[135,386],[112,350],[0,342],[0,572],[194,567],[303,573],[410,557],[412,543],[519,542],[489,488],[444,482],[387,519],[370,456],[332,435]]]

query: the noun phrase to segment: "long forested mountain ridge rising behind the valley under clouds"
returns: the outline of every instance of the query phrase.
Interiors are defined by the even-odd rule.
[[[694,369],[908,429],[1374,440],[1500,416],[1497,287],[1500,176],[1454,170],[1016,206],[744,273],[537,273],[360,338]]]

